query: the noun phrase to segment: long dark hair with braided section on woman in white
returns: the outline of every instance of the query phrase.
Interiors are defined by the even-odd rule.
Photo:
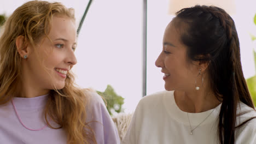
[[[254,109],[243,76],[240,44],[234,20],[218,7],[196,5],[176,13],[174,25],[181,33],[181,41],[188,47],[192,61],[208,62],[210,86],[222,101],[219,112],[218,137],[224,144],[235,143],[237,105],[240,101]]]

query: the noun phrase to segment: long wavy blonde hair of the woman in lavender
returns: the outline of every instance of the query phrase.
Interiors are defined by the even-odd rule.
[[[27,2],[17,8],[5,22],[0,38],[0,104],[6,104],[19,95],[21,82],[21,57],[15,45],[19,35],[24,36],[34,48],[42,37],[48,37],[53,16],[65,16],[75,20],[74,10],[61,3],[45,1]],[[36,50],[36,49],[35,49]],[[74,84],[74,76],[67,74],[65,87],[52,89],[45,106],[45,121],[50,128],[63,128],[67,143],[96,143],[93,130],[85,122],[88,97]],[[51,126],[48,119],[60,125]]]

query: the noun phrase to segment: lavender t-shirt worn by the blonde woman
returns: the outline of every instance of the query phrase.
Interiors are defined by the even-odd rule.
[[[95,92],[86,92],[89,105],[86,107],[86,122],[94,130],[98,144],[120,143],[118,131],[115,127],[102,98]],[[22,123],[30,129],[44,127],[43,109],[48,95],[35,98],[14,98],[13,102]],[[55,124],[55,127],[58,125]],[[4,144],[66,144],[67,139],[63,129],[46,127],[39,131],[26,129],[15,114],[11,103],[0,105],[0,143]]]

